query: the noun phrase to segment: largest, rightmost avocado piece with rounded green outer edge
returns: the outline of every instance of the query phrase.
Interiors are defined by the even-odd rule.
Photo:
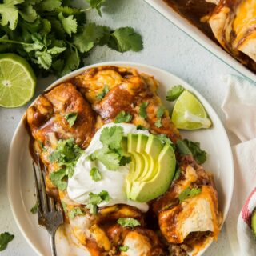
[[[176,158],[173,147],[166,144],[158,154],[158,168],[149,181],[132,183],[128,198],[138,202],[148,202],[164,194],[174,178]]]

